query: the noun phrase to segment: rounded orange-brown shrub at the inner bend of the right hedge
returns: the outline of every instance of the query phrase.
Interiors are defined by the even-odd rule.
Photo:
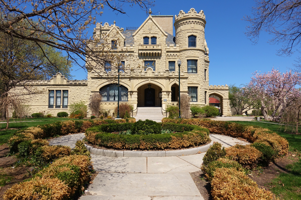
[[[237,161],[243,167],[252,169],[256,167],[262,153],[250,145],[234,145],[226,148],[226,156]]]

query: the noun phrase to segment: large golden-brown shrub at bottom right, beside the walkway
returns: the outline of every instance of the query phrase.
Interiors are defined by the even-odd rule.
[[[219,168],[211,182],[214,200],[272,200],[272,192],[259,189],[256,182],[234,168]]]

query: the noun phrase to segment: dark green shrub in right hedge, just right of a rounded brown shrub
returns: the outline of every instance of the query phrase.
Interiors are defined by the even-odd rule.
[[[264,165],[268,165],[271,161],[274,161],[277,157],[278,152],[275,152],[270,145],[254,142],[251,144],[252,147],[256,148],[262,153],[260,161]]]

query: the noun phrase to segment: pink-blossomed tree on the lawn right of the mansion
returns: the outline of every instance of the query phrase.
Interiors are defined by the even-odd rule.
[[[265,120],[279,121],[285,108],[300,96],[295,88],[300,83],[301,73],[280,73],[273,68],[268,73],[254,72],[246,89],[253,101],[260,100]]]

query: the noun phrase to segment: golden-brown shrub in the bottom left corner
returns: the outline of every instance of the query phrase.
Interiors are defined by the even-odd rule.
[[[6,190],[3,200],[63,200],[68,198],[68,187],[57,178],[40,178],[13,185]]]

